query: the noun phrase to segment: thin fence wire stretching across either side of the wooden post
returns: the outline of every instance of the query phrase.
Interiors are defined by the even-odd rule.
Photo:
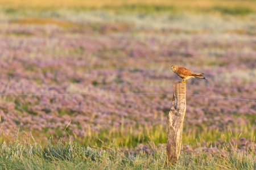
[[[173,93],[115,93],[115,94],[0,94],[0,96],[27,96],[27,95],[139,95],[139,94],[173,94]],[[205,97],[217,97],[222,99],[234,99],[234,100],[247,100],[247,101],[256,101],[251,99],[240,99],[234,97],[223,97],[223,96],[209,96],[209,95],[197,95],[197,94],[187,94],[187,95],[195,95],[195,96],[205,96]]]

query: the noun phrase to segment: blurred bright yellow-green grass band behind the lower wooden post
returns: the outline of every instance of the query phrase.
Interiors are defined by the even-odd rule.
[[[133,129],[127,128],[128,131],[125,133],[122,131],[114,130],[102,130],[99,133],[94,131],[89,131],[90,129],[86,130],[88,132],[88,137],[83,138],[80,137],[80,141],[83,145],[92,145],[97,143],[97,146],[102,146],[102,143],[99,139],[106,143],[113,143],[115,147],[135,147],[138,146],[140,143],[146,144],[150,139],[154,141],[156,145],[159,143],[166,143],[166,135],[167,135],[167,128],[162,126],[156,126],[153,129],[142,128],[141,131],[138,133],[133,133]],[[250,130],[249,130],[250,129]],[[224,136],[227,138],[235,137],[245,137],[246,139],[254,139],[254,130],[251,129],[251,125],[246,126],[236,126],[232,129],[232,134],[230,133],[230,128],[226,128],[225,130],[219,129],[208,129],[207,127],[200,128],[200,129],[189,129],[183,131],[183,143],[187,143],[189,145],[196,145],[196,141],[198,142],[205,142],[212,143],[215,142],[217,139],[221,139],[222,141],[225,140]],[[73,133],[69,133],[73,134]]]

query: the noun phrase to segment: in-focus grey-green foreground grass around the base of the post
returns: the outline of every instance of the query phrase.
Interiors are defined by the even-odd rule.
[[[35,142],[31,137],[26,143],[4,142],[1,135],[0,167],[5,169],[255,169],[254,148],[247,154],[236,145],[211,148],[212,154],[200,151],[196,154],[182,152],[176,166],[165,164],[166,148],[156,147],[150,141],[150,154],[127,154],[114,145],[83,146],[77,139],[62,138],[55,144],[51,138],[47,145]],[[226,142],[228,144],[229,142]],[[254,145],[254,143],[252,143]]]

